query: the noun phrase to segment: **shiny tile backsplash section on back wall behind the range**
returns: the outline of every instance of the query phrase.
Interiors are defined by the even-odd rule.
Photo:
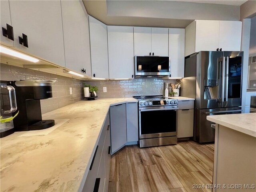
[[[99,98],[132,97],[137,95],[164,95],[164,82],[175,84],[176,80],[162,78],[135,78],[132,80],[85,81],[91,86],[97,86]],[[103,87],[107,92],[103,92]]]

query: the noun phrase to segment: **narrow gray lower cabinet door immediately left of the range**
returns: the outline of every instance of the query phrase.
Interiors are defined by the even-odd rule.
[[[127,142],[138,141],[138,103],[126,103]]]

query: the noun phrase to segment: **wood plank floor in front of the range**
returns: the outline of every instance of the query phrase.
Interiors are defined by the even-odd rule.
[[[211,192],[214,144],[193,141],[139,148],[126,146],[111,157],[109,192]]]

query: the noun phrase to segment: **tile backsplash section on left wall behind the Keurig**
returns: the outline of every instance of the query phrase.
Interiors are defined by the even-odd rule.
[[[52,98],[41,100],[42,114],[82,100],[83,82],[64,76],[35,71],[6,64],[0,64],[0,80],[51,80]],[[69,88],[73,94],[70,95]]]

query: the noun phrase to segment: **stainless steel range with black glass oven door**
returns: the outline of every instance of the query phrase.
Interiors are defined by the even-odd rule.
[[[164,96],[134,96],[138,100],[139,146],[177,144],[178,100]]]

